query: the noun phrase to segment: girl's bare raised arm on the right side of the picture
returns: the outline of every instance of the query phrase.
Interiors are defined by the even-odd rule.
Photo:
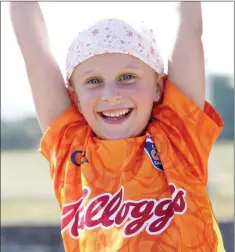
[[[205,102],[205,67],[200,2],[180,2],[179,27],[168,61],[168,79],[201,108]]]

